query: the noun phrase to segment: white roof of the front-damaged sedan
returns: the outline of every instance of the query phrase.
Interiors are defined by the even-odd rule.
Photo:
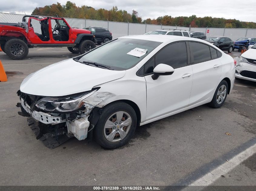
[[[119,38],[120,39],[126,38],[126,39],[149,40],[149,41],[155,41],[155,42],[161,42],[161,43],[172,43],[175,41],[182,41],[182,40],[190,40],[190,41],[192,40],[192,41],[207,43],[205,40],[196,39],[196,38],[182,37],[182,36],[175,36],[175,35],[159,35],[159,34],[130,35],[130,36],[124,36],[124,37],[119,37]]]

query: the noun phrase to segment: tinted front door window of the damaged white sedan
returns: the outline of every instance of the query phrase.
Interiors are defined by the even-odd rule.
[[[155,66],[167,64],[173,68],[187,65],[187,48],[185,42],[173,43],[166,46],[155,56]]]

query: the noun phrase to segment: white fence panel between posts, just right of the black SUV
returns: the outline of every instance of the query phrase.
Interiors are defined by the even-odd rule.
[[[128,35],[128,23],[109,22],[108,30],[112,33],[113,39]]]

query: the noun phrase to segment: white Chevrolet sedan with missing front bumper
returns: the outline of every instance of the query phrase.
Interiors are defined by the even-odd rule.
[[[117,148],[136,126],[205,103],[221,107],[234,78],[232,57],[204,40],[126,36],[28,75],[17,106],[49,148],[88,132]]]

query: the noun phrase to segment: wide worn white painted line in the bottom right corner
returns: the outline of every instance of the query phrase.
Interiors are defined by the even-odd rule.
[[[215,168],[214,170],[210,171],[209,173],[205,174],[203,177],[195,180],[189,186],[209,186],[221,175],[230,172],[234,169],[238,164],[252,156],[256,153],[256,144],[252,145],[251,147],[247,148],[246,150],[242,151],[241,153],[235,155],[229,161],[225,162],[224,164],[220,165],[219,167]]]

